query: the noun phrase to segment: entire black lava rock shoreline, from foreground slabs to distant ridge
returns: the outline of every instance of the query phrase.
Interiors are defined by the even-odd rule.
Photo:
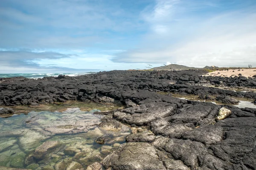
[[[204,73],[111,71],[37,80],[0,78],[0,105],[8,108],[70,100],[124,104],[125,109],[105,112],[99,127],[119,128],[118,122],[122,122],[134,127],[133,133],[126,137],[127,143],[87,167],[88,170],[256,169],[256,109],[182,100],[170,95],[197,95],[203,99],[210,96],[224,104],[234,101],[233,97],[256,100],[254,92],[218,88],[255,89],[256,78],[201,76]],[[205,84],[215,87],[202,86]],[[216,117],[223,107],[231,115],[222,120]],[[2,109],[1,114],[12,114],[12,110]],[[148,130],[140,130],[142,126]]]

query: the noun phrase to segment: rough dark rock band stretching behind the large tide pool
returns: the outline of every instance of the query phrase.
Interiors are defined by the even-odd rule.
[[[246,81],[237,78],[198,76],[204,70],[190,71],[111,71],[92,75],[38,80],[28,78],[1,78],[0,105],[30,105],[64,102],[67,100],[125,102],[136,101],[137,90],[177,92],[189,95],[228,95],[256,99],[256,93],[234,92],[214,87],[197,86],[200,82],[256,88],[256,78]],[[176,82],[176,84],[173,84]],[[170,84],[172,83],[172,84]],[[139,101],[139,100],[137,100]]]

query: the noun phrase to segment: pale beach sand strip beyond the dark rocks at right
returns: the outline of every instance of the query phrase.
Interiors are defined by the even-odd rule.
[[[217,70],[214,72],[209,72],[206,76],[222,76],[222,77],[230,77],[230,76],[239,76],[241,74],[244,77],[252,77],[256,75],[256,69],[229,69],[229,70]]]

